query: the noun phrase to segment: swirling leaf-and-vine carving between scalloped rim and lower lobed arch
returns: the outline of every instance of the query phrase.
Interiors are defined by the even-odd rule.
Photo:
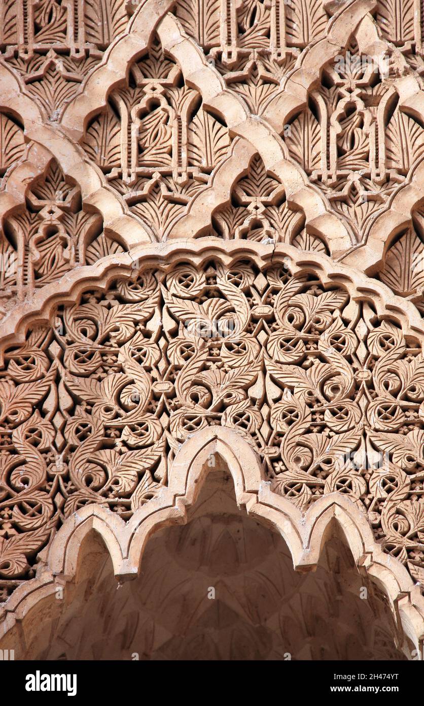
[[[346,493],[423,581],[424,357],[418,337],[310,270],[211,256],[145,266],[59,306],[1,378],[1,575],[87,503],[123,519],[166,486],[179,445],[234,429],[305,510]]]

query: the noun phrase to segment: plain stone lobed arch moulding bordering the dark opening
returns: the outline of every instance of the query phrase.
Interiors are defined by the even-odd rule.
[[[277,496],[262,478],[260,462],[250,445],[230,429],[204,429],[183,444],[171,469],[169,488],[149,510],[139,508],[125,523],[104,508],[87,505],[69,517],[56,534],[37,577],[18,587],[0,611],[2,638],[7,639],[16,621],[23,621],[39,602],[63,590],[75,577],[78,554],[86,537],[95,532],[107,546],[119,582],[136,578],[143,568],[148,539],[162,527],[185,524],[187,510],[195,504],[207,477],[210,455],[225,457],[238,506],[265,526],[274,527],[289,547],[293,567],[316,570],[323,546],[336,523],[351,550],[356,566],[389,597],[399,630],[415,650],[423,647],[423,599],[411,586],[406,570],[384,556],[372,540],[365,516],[349,498],[334,493],[321,498],[305,515],[285,498]],[[3,614],[3,616],[1,616]],[[411,659],[405,640],[403,649]],[[415,659],[415,657],[414,657]]]

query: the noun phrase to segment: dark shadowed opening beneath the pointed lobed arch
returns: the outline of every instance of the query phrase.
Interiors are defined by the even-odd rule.
[[[219,455],[186,524],[150,537],[138,578],[116,582],[93,531],[59,598],[44,597],[0,647],[49,660],[406,659],[387,598],[337,523],[316,570],[296,572],[279,532],[237,507]]]

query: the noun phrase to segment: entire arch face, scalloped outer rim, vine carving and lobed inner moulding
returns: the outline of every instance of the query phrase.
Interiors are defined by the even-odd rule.
[[[99,285],[47,297],[53,325],[35,313],[26,341],[6,344],[12,603],[37,552],[49,575],[72,575],[90,528],[116,575],[136,575],[152,532],[185,521],[216,453],[295,566],[315,566],[339,522],[392,602],[410,596],[418,626],[418,311],[293,246],[166,250],[140,249],[137,268],[109,258]]]

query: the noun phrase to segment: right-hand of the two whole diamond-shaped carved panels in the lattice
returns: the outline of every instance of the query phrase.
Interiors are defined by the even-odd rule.
[[[362,243],[424,152],[424,130],[401,111],[389,50],[361,54],[352,40],[325,67],[310,105],[286,128],[291,156]]]

